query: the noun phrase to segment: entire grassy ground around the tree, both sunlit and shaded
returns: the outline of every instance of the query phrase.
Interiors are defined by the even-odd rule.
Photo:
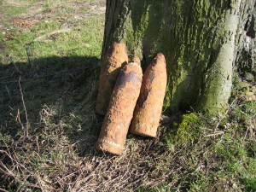
[[[128,135],[123,155],[102,154],[94,108],[104,15],[95,9],[104,2],[4,2],[0,190],[256,190],[255,101],[237,97],[222,119],[174,115],[156,138]]]

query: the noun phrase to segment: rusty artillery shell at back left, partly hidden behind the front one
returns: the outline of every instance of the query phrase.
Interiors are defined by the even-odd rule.
[[[128,62],[126,45],[113,43],[108,49],[108,55],[100,75],[100,84],[96,100],[96,113],[105,115],[111,93],[121,67]]]

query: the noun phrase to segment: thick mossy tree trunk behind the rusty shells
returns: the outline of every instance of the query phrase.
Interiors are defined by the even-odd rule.
[[[109,0],[102,61],[113,41],[143,69],[161,52],[166,109],[224,112],[234,66],[255,64],[255,7],[255,0]]]

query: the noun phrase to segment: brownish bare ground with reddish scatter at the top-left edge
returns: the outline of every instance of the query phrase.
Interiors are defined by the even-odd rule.
[[[0,20],[11,25],[0,25],[2,30],[7,33],[11,28],[17,28],[20,32],[27,32],[32,26],[35,26],[38,22],[52,22],[56,21],[60,23],[60,28],[73,28],[77,26],[79,20],[84,20],[93,15],[104,15],[106,11],[106,2],[103,0],[88,2],[67,2],[58,3],[54,8],[50,8],[46,11],[44,8],[44,1],[38,1],[36,3],[28,3],[26,1],[15,0],[3,0],[3,3],[7,3],[10,6],[20,7],[28,6],[26,13],[20,14],[15,18],[4,18],[0,15]],[[9,36],[4,40],[9,40]]]

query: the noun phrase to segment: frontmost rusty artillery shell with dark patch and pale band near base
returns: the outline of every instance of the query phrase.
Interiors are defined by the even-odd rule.
[[[121,154],[143,81],[140,64],[131,62],[121,70],[110,98],[96,148]]]

